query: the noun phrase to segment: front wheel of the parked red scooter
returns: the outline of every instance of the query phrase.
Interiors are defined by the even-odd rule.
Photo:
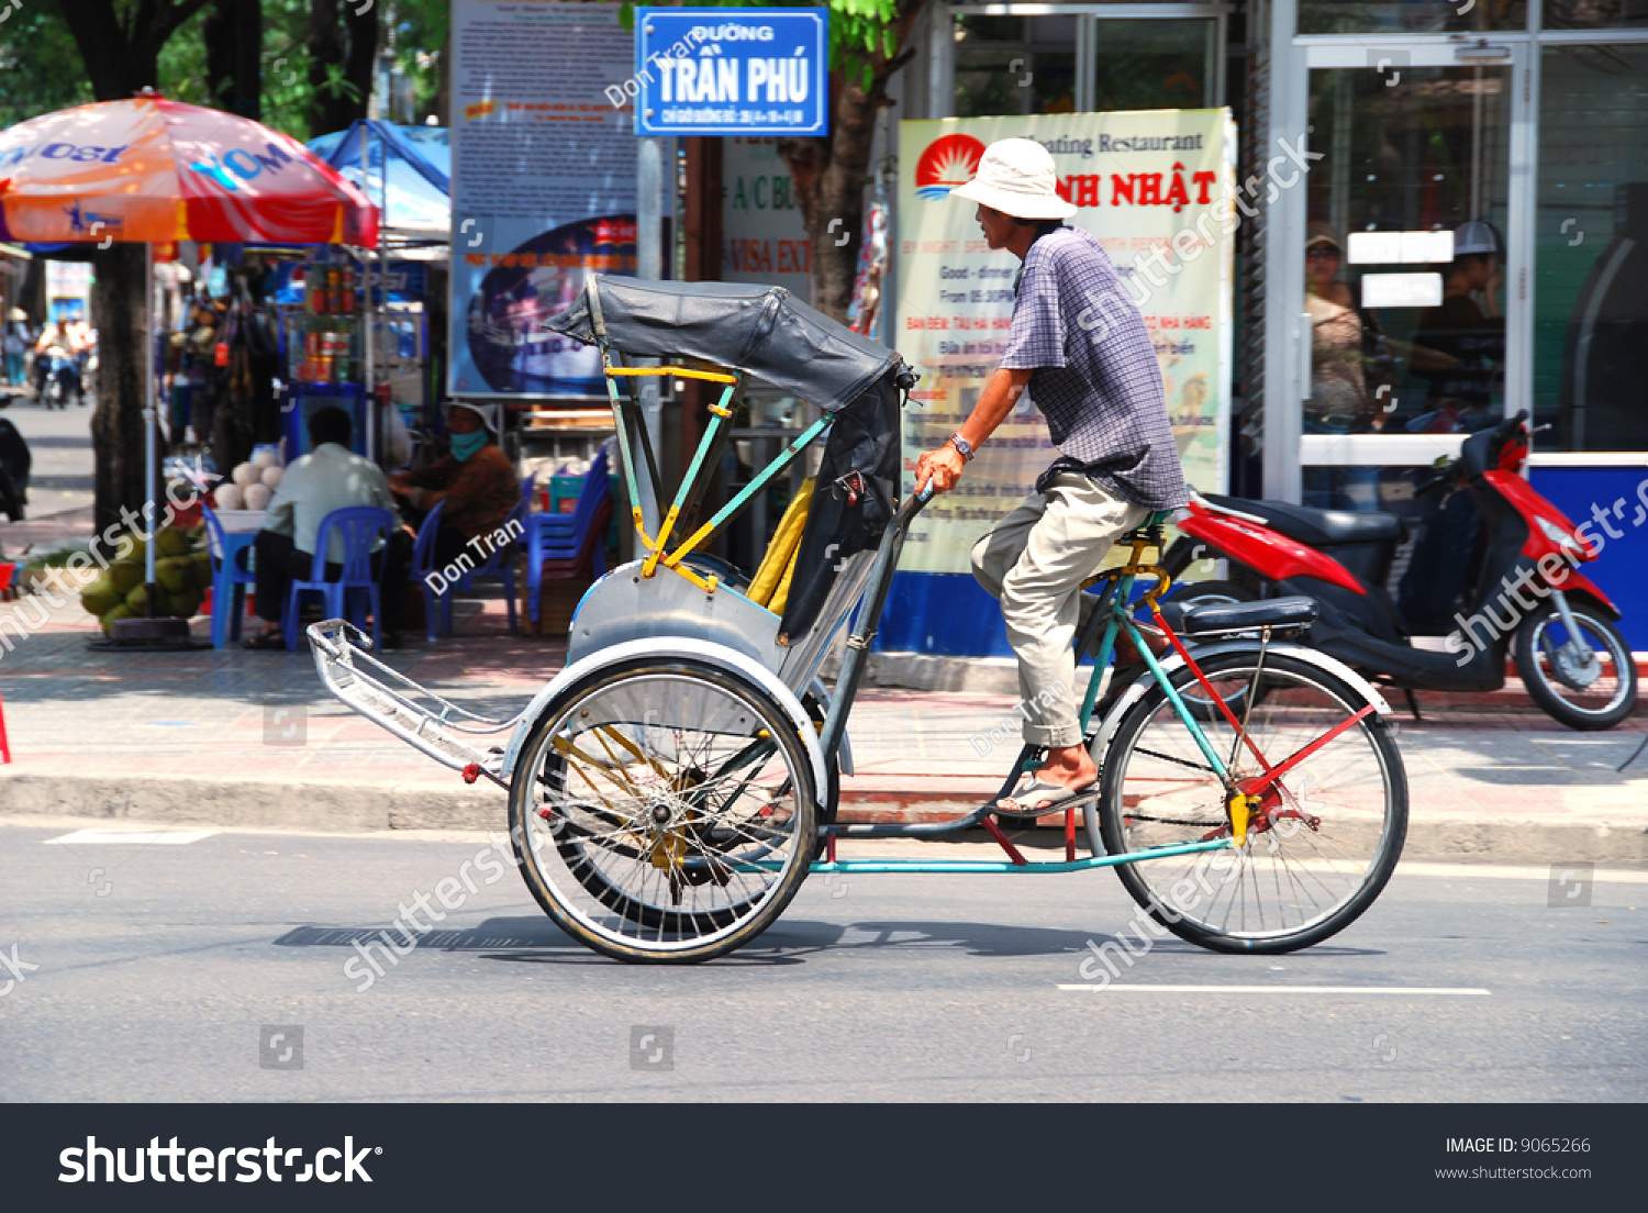
[[[1587,684],[1587,671],[1572,669],[1562,653],[1567,628],[1549,602],[1516,628],[1511,641],[1516,674],[1528,687],[1528,695],[1557,724],[1582,732],[1613,728],[1636,707],[1636,661],[1632,658],[1632,646],[1590,603],[1571,600],[1569,608],[1580,631],[1589,633],[1585,643],[1597,666],[1594,681]],[[1595,658],[1599,649],[1602,659]],[[1564,674],[1579,677],[1569,681]]]

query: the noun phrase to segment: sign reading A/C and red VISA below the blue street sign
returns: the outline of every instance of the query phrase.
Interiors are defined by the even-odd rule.
[[[812,302],[812,252],[773,138],[722,140],[722,279],[788,287]]]

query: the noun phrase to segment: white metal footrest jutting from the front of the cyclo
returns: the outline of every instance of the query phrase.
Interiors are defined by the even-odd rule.
[[[336,699],[442,766],[480,766],[496,778],[519,717],[493,720],[442,699],[374,658],[366,635],[344,620],[311,623],[308,638],[315,669]]]

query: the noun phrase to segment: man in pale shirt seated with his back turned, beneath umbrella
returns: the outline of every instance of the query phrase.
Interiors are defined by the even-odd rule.
[[[269,501],[269,516],[257,532],[254,572],[257,574],[257,615],[264,630],[247,636],[249,649],[283,649],[287,639],[280,631],[280,613],[293,580],[308,580],[315,567],[315,539],[321,519],[346,506],[381,506],[394,514],[394,498],[382,470],[368,458],[349,450],[354,438],[354,422],[343,409],[318,409],[308,420],[310,453],[285,470],[280,488]],[[326,565],[326,577],[343,574],[343,537],[331,536],[335,560]],[[372,557],[379,575],[379,600],[384,618],[379,621],[384,648],[400,643],[400,595],[412,569],[412,536],[400,529],[399,518],[389,532],[384,550]]]

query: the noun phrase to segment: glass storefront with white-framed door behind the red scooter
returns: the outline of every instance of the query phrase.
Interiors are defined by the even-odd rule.
[[[1234,234],[1238,491],[1411,514],[1416,468],[1526,409],[1541,493],[1648,522],[1645,0],[936,7],[901,101],[1231,107],[1238,180],[1280,185]],[[1648,560],[1595,580],[1648,649]]]

